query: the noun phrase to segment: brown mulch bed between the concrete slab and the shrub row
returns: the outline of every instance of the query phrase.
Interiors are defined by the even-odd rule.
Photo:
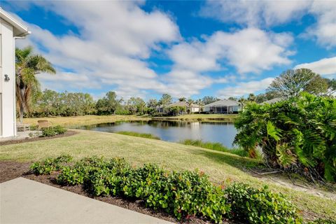
[[[31,162],[13,162],[13,161],[0,161],[0,183],[3,183],[5,181],[9,181],[11,179],[15,179],[18,177],[24,177],[26,179],[31,179],[33,181],[38,181],[40,183],[47,184],[49,186],[53,186],[55,188],[61,188],[63,190],[71,191],[72,193],[76,193],[78,195],[83,195],[85,197],[91,197],[94,200],[99,200],[102,202],[106,202],[109,204],[114,204],[118,207],[123,207],[125,209],[130,209],[132,211],[137,211],[141,214],[146,214],[149,216],[153,216],[156,218],[161,218],[166,221],[170,221],[172,223],[177,223],[176,218],[173,216],[170,216],[169,214],[165,214],[165,212],[160,211],[153,211],[152,209],[147,209],[144,204],[140,201],[134,201],[134,200],[124,200],[120,197],[94,197],[85,190],[81,186],[59,186],[55,178],[57,176],[57,173],[53,173],[51,175],[41,175],[36,176],[29,172],[29,166],[31,165]],[[190,224],[205,224],[210,223],[209,221],[204,221],[200,218],[194,218],[191,217],[188,220],[183,220],[180,223],[190,223]],[[224,222],[226,224],[232,223],[232,222]]]

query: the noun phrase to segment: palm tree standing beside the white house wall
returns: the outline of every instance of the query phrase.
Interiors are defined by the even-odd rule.
[[[38,73],[56,73],[52,64],[42,55],[33,55],[33,48],[15,49],[16,102],[19,107],[20,123],[24,113],[30,109],[31,97],[40,90],[36,78]]]

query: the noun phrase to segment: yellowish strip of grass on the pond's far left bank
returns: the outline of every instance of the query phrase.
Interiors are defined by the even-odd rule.
[[[76,116],[76,117],[50,117],[50,118],[25,118],[23,123],[30,125],[37,125],[38,120],[49,120],[53,125],[62,125],[65,127],[73,127],[76,125],[95,125],[99,123],[113,123],[120,120],[149,120],[148,117],[141,116],[123,116],[123,115],[110,115],[110,116]]]

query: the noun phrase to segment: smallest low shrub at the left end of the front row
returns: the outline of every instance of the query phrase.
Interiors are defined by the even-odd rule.
[[[34,162],[30,169],[34,174],[51,174],[54,171],[61,169],[62,165],[70,162],[72,157],[70,155],[61,155],[57,158],[47,158],[41,162]]]

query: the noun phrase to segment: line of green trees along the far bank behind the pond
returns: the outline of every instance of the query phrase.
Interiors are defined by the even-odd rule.
[[[200,106],[216,102],[216,97],[203,97],[194,101],[181,97],[180,102],[187,105],[198,104]],[[183,106],[172,106],[173,98],[169,94],[162,94],[158,99],[149,99],[145,102],[141,97],[123,99],[118,97],[116,92],[109,91],[100,99],[94,100],[88,93],[83,92],[56,92],[54,90],[43,90],[31,95],[29,99],[29,111],[25,112],[26,117],[48,117],[48,116],[83,116],[83,115],[144,115],[160,116],[158,111],[162,108],[165,113],[176,115],[181,111],[188,113],[188,108]],[[19,110],[18,110],[19,112]]]

